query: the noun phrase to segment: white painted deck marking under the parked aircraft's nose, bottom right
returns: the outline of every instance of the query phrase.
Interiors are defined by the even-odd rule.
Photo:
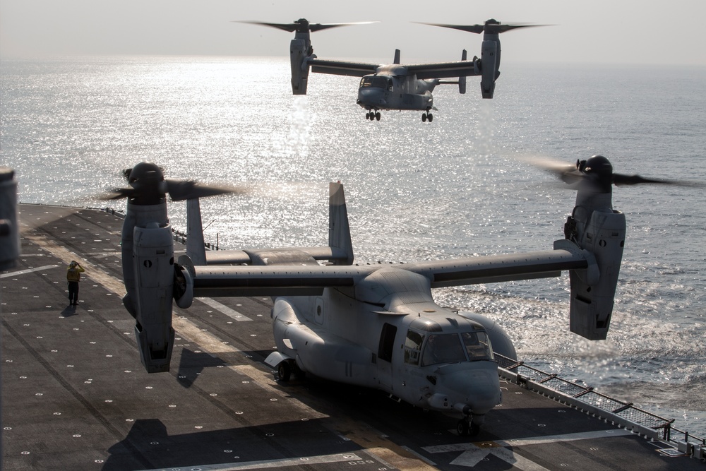
[[[486,441],[477,443],[452,443],[449,445],[436,445],[436,446],[423,446],[422,450],[427,453],[448,453],[450,451],[462,451],[460,455],[451,461],[451,465],[473,467],[477,465],[480,460],[486,458],[488,455],[494,455],[501,460],[525,471],[546,471],[546,468],[542,465],[534,463],[534,461],[529,460],[521,455],[513,453],[512,450],[506,447],[517,447],[517,446],[527,446],[527,445],[540,445],[542,443],[557,443],[561,441],[576,441],[576,440],[587,440],[587,439],[602,439],[614,436],[622,435],[632,435],[633,433],[626,429],[614,429],[614,430],[597,430],[597,431],[585,431],[578,432],[575,434],[564,434],[564,435],[548,435],[539,437],[529,437],[526,439],[511,439],[511,440],[498,440],[498,441]]]

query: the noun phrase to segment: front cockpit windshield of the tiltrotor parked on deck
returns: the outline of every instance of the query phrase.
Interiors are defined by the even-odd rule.
[[[429,335],[429,340],[424,346],[421,364],[426,366],[488,359],[493,359],[493,352],[486,333],[444,333]]]

